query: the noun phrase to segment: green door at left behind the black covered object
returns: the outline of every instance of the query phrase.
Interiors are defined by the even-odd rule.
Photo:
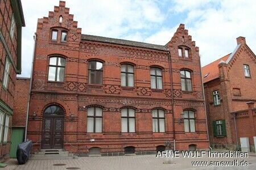
[[[11,148],[10,157],[16,158],[16,151],[19,143],[23,142],[24,138],[24,128],[13,128],[11,130]]]

